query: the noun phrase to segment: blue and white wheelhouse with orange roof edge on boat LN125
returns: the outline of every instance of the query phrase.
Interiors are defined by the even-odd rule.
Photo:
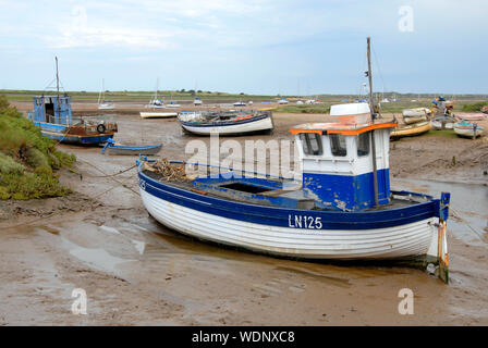
[[[292,128],[305,196],[319,208],[370,209],[376,206],[376,171],[378,204],[390,203],[389,144],[395,126],[395,123],[313,123]]]

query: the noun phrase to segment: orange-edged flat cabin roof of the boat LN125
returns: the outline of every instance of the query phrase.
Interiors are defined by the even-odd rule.
[[[386,122],[386,123],[361,123],[361,124],[347,124],[347,123],[305,123],[297,125],[290,129],[291,134],[301,133],[316,133],[319,135],[324,134],[342,134],[342,135],[358,135],[373,129],[383,129],[383,128],[394,128],[398,123]]]

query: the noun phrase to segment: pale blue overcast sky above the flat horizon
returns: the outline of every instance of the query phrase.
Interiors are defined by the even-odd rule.
[[[402,7],[408,7],[403,8]],[[0,89],[488,95],[486,0],[0,0]],[[411,21],[412,20],[412,21]]]

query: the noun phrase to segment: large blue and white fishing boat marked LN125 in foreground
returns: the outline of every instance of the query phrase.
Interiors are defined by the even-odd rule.
[[[371,113],[293,127],[301,181],[141,158],[141,197],[161,224],[202,240],[291,258],[420,260],[448,282],[450,194],[390,189],[395,126]]]

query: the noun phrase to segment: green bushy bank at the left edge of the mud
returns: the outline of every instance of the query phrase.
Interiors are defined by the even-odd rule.
[[[75,157],[58,151],[54,142],[24,119],[0,95],[0,199],[64,196],[56,170],[71,166]]]

